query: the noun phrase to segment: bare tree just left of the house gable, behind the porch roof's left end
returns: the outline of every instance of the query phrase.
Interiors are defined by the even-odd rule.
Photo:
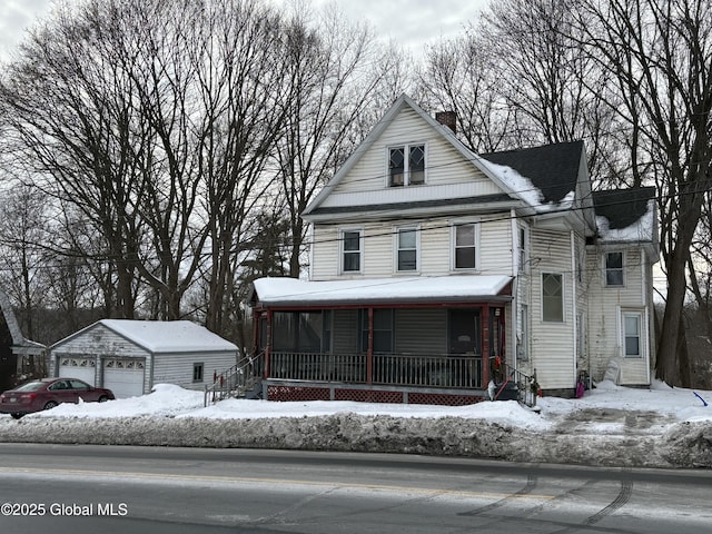
[[[295,12],[285,53],[290,106],[276,156],[291,230],[289,276],[298,277],[307,233],[300,214],[365,137],[383,105],[397,98],[404,76],[395,49],[377,47],[368,27],[334,10]]]

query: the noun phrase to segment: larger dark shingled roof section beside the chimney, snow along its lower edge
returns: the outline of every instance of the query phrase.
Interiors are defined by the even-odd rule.
[[[493,164],[513,168],[542,191],[544,202],[558,204],[576,190],[583,150],[583,141],[573,141],[479,156]]]

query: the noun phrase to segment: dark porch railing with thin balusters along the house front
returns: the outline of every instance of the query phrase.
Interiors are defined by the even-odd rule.
[[[461,354],[273,353],[270,378],[419,387],[482,387],[482,358]],[[370,378],[370,382],[369,382]]]

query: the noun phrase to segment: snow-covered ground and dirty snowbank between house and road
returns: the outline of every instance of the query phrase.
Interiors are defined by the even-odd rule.
[[[708,404],[705,406],[705,404]],[[141,397],[0,416],[0,441],[405,452],[593,465],[712,467],[712,392],[603,382],[583,398],[471,406],[273,403],[158,385]]]

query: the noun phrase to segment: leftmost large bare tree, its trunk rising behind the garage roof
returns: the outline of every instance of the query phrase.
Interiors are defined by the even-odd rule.
[[[0,86],[3,141],[16,165],[43,178],[38,188],[73,205],[101,234],[100,256],[117,271],[119,315],[132,317],[135,268],[123,259],[135,254],[139,231],[130,210],[136,109],[112,56],[121,34],[116,17],[93,8],[67,7],[23,44]]]

